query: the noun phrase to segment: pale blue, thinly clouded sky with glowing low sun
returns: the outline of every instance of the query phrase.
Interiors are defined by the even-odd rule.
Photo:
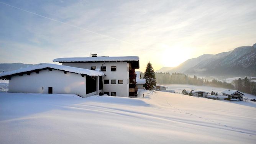
[[[139,56],[158,70],[256,43],[256,0],[0,0],[0,63]]]

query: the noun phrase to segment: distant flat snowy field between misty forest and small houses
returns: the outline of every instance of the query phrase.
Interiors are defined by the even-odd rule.
[[[175,90],[176,93],[181,93],[182,90],[194,90],[194,91],[197,91],[197,90],[202,90],[202,91],[205,91],[205,92],[217,92],[219,95],[222,95],[221,92],[223,92],[224,90],[228,90],[227,88],[220,88],[220,87],[209,87],[209,86],[199,86],[199,85],[180,85],[180,84],[172,84],[172,85],[165,85],[167,86],[168,88],[166,90]],[[244,93],[245,94],[245,98],[255,98],[256,99],[256,96],[255,95],[251,95],[251,94],[248,94],[248,93]]]

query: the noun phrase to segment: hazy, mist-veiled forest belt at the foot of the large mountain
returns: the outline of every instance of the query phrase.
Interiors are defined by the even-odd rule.
[[[189,85],[207,85],[212,87],[223,87],[234,89],[234,85],[232,83],[222,82],[216,79],[207,80],[194,75],[194,77],[190,77],[187,74],[182,73],[172,73],[169,74],[163,72],[156,72],[156,81],[157,83],[162,84],[189,84]]]

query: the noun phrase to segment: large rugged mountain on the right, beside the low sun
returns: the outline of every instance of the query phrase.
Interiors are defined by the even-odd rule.
[[[181,72],[200,76],[255,76],[256,44],[237,47],[233,51],[219,54],[203,54],[177,67],[164,67],[161,72]]]

